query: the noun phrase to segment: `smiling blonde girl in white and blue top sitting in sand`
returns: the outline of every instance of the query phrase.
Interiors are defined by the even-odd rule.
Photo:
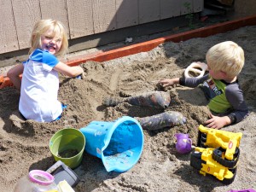
[[[31,49],[27,61],[7,73],[20,90],[19,111],[26,119],[50,122],[61,117],[63,105],[58,101],[58,73],[77,77],[79,66],[69,67],[56,56],[67,53],[67,32],[58,20],[39,20],[32,30]],[[20,74],[22,73],[22,79]]]

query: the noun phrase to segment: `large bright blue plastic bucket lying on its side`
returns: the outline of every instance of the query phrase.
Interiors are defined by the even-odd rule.
[[[85,151],[102,159],[107,172],[126,172],[143,153],[143,129],[136,119],[124,116],[113,122],[91,121],[80,129]]]

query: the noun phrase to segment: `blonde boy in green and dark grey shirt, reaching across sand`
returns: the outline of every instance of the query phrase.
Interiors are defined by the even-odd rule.
[[[232,42],[225,41],[212,46],[206,55],[209,73],[200,79],[160,79],[163,87],[181,84],[188,87],[200,85],[209,100],[212,114],[205,124],[220,129],[225,125],[238,123],[247,116],[248,108],[237,75],[244,65],[244,51]]]

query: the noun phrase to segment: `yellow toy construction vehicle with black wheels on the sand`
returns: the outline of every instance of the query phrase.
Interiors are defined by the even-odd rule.
[[[198,141],[191,154],[190,166],[203,175],[211,174],[225,184],[236,177],[242,133],[216,130],[199,126]]]

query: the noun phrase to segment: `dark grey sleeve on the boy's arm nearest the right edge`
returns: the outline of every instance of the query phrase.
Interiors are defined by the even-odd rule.
[[[236,116],[236,123],[240,122],[247,116],[248,108],[247,104],[244,101],[242,90],[239,87],[239,84],[229,84],[225,90],[226,98],[232,105],[234,111],[233,113]]]

